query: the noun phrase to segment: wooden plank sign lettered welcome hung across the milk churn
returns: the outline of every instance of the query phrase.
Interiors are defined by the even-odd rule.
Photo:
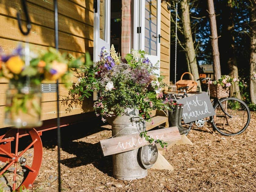
[[[154,139],[161,139],[164,142],[180,140],[180,132],[178,128],[169,127],[165,129],[148,131],[148,135]],[[131,151],[149,144],[145,137],[140,137],[140,133],[114,137],[100,141],[104,156]]]

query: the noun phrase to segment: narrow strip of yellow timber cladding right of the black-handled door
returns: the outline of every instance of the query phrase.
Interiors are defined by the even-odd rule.
[[[163,82],[170,82],[170,11],[167,4],[161,4],[161,50],[160,72],[165,78]]]

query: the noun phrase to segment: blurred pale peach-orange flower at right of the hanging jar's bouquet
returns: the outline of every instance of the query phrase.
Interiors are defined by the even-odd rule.
[[[59,63],[57,61],[52,62],[52,67],[50,71],[45,73],[46,79],[57,80],[62,77],[68,70],[68,65],[66,63]]]

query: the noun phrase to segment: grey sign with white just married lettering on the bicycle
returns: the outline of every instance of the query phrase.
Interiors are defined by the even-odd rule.
[[[206,92],[179,99],[178,103],[184,105],[182,117],[185,123],[215,115],[211,100]]]

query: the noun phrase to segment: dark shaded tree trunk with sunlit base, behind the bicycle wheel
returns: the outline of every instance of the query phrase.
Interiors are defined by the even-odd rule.
[[[223,9],[223,35],[222,39],[225,41],[223,44],[224,51],[222,54],[226,58],[226,63],[229,69],[229,75],[233,78],[238,78],[238,69],[235,56],[235,38],[233,35],[234,22],[233,22],[233,5],[232,0],[228,0],[226,6]],[[230,87],[230,96],[241,99],[241,94],[238,84],[234,83]]]

